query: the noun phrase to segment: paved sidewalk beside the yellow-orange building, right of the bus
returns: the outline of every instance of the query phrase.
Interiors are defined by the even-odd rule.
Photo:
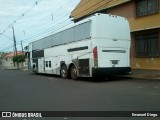
[[[160,70],[132,70],[129,76],[134,79],[160,80]]]

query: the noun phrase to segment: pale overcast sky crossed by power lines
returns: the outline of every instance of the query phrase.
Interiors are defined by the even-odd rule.
[[[38,3],[36,5],[36,2]],[[0,52],[45,37],[71,23],[69,16],[80,0],[0,0]]]

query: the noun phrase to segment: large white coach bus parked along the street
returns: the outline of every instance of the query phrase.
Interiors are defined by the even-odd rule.
[[[29,44],[29,64],[35,73],[62,78],[125,75],[130,67],[127,19],[96,13]]]

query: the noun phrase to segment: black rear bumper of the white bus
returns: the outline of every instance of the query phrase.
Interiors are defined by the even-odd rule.
[[[131,67],[92,68],[93,77],[129,74],[131,74]]]

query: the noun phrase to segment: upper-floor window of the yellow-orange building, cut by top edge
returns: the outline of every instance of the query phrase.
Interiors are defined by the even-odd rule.
[[[158,0],[137,0],[137,16],[144,16],[159,12]]]

